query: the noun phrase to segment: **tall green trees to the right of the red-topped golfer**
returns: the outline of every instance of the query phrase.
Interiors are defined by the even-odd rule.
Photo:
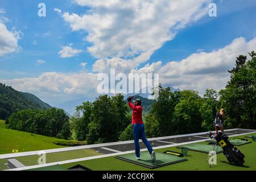
[[[228,116],[225,129],[256,129],[256,54],[251,59],[239,56],[228,71],[230,80],[225,89],[207,89],[204,97],[195,90],[171,92],[162,88],[158,100],[146,116],[146,135],[160,137],[213,130],[216,112],[224,108]]]

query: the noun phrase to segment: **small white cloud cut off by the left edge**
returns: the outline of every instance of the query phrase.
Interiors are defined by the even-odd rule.
[[[0,56],[19,50],[18,40],[22,33],[19,31],[9,31],[5,24],[0,22]]]

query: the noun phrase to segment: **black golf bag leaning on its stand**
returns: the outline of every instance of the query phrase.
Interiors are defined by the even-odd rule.
[[[219,132],[217,135],[214,135],[213,133],[210,133],[209,136],[210,138],[214,138],[217,143],[220,144],[223,149],[223,154],[230,163],[236,164],[237,166],[241,166],[245,163],[245,160],[243,160],[245,155],[229,142],[229,137],[226,134]]]

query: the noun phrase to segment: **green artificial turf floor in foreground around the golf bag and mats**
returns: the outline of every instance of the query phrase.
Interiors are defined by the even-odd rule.
[[[249,134],[252,135],[252,134]],[[247,136],[249,136],[247,135]],[[240,136],[239,138],[245,137],[246,135]],[[236,138],[236,137],[231,137]],[[115,170],[125,170],[125,171],[146,171],[146,170],[158,170],[158,171],[246,171],[246,170],[256,170],[256,142],[253,142],[252,139],[249,139],[252,143],[245,144],[243,146],[238,146],[237,148],[242,151],[245,155],[245,163],[242,167],[232,166],[228,163],[226,157],[221,154],[217,154],[217,165],[213,165],[212,168],[209,168],[209,163],[206,162],[208,158],[208,154],[188,151],[188,156],[185,158],[188,159],[186,162],[171,164],[169,166],[164,166],[156,169],[149,169],[146,167],[138,166],[136,164],[132,164],[129,162],[125,162],[123,160],[115,159],[114,157],[109,158],[101,158],[101,159],[93,159],[86,160],[84,162],[77,163],[69,163],[63,164],[62,166],[65,168],[69,168],[75,166],[76,164],[81,164],[82,166],[88,167],[92,170],[96,171],[115,171]],[[201,142],[203,144],[207,144],[207,142]],[[162,148],[159,150],[155,150],[156,152],[164,152],[166,150],[172,150],[180,152],[180,149],[176,147]],[[149,155],[149,154],[148,154]],[[134,155],[135,158],[135,155]],[[157,156],[156,156],[157,158]]]

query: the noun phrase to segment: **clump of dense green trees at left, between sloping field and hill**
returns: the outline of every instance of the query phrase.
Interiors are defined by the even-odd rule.
[[[20,110],[7,119],[7,128],[69,139],[69,117],[63,109]]]

